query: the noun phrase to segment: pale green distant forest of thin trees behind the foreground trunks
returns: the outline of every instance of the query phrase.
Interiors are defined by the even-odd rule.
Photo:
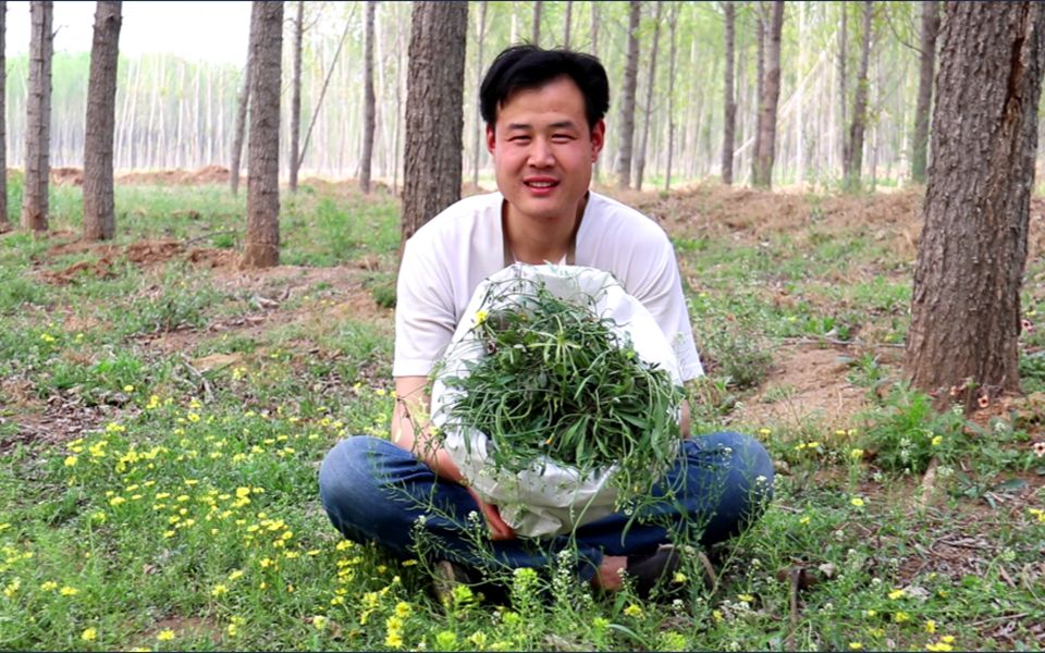
[[[53,61],[51,162],[54,167],[79,167],[83,162],[84,120],[87,97],[89,52],[67,51],[63,46],[77,38],[61,26],[63,2],[56,3],[57,26]],[[71,3],[73,4],[73,3]],[[85,3],[78,3],[86,7]],[[128,3],[133,5],[135,3]],[[229,61],[232,47],[224,46],[212,58],[195,59],[192,48],[184,56],[147,52],[121,54],[116,85],[116,170],[197,169],[209,164],[229,165],[236,119],[237,94],[246,63],[249,5],[243,11],[217,13],[224,21],[228,39],[242,42],[239,62]],[[611,77],[611,137],[602,157],[602,169],[612,171],[619,144],[614,137],[622,122],[620,93],[627,57],[628,4],[622,2],[543,2],[540,42],[568,42],[570,47],[600,57]],[[565,13],[570,5],[570,34],[565,34]],[[12,4],[13,7],[13,4]],[[208,5],[209,7],[209,5]],[[918,90],[920,3],[896,2],[877,5],[873,19],[869,67],[868,136],[863,159],[870,188],[896,187],[910,180],[910,152],[914,130]],[[465,178],[492,187],[489,157],[482,151],[478,112],[480,71],[504,47],[533,35],[531,2],[489,2],[479,42],[479,2],[469,3],[468,52],[464,94]],[[735,178],[747,183],[753,156],[758,112],[757,26],[758,3],[738,3],[736,24]],[[13,10],[12,10],[13,11]],[[130,11],[130,9],[128,9]],[[189,9],[188,11],[195,11]],[[212,10],[199,7],[196,20],[208,23]],[[862,9],[851,2],[795,4],[784,22],[780,59],[780,99],[777,127],[777,164],[773,185],[802,185],[828,188],[841,176],[844,134],[849,131],[852,93],[860,57]],[[288,97],[293,16],[285,20],[283,48],[283,93]],[[89,27],[86,9],[77,14]],[[848,45],[843,34],[847,15]],[[404,111],[406,101],[409,3],[378,3],[374,32],[374,94],[377,99],[377,146],[373,177],[391,186],[402,183]],[[133,17],[125,19],[121,41],[133,38]],[[145,15],[140,20],[146,20]],[[660,41],[654,69],[653,93],[649,63],[656,24]],[[642,65],[636,97],[637,133],[649,123],[647,146],[649,172],[646,183],[665,183],[669,130],[674,130],[672,155],[675,183],[716,175],[720,171],[723,133],[723,7],[715,2],[668,4],[657,17],[652,5],[643,13],[638,39]],[[9,26],[12,45],[19,42]],[[674,26],[674,29],[673,29]],[[303,45],[302,113],[303,138],[315,120],[303,174],[328,178],[358,177],[362,150],[362,81],[365,12],[361,3],[307,2]],[[205,35],[207,38],[209,35]],[[24,38],[24,37],[23,37]],[[198,37],[188,29],[185,40]],[[672,40],[675,40],[674,74]],[[82,40],[82,37],[79,38]],[[74,40],[75,42],[75,40]],[[593,47],[594,46],[594,47]],[[139,46],[142,47],[142,46]],[[845,59],[839,48],[845,48]],[[63,51],[64,50],[64,51]],[[839,64],[845,61],[846,65]],[[24,152],[27,56],[11,52],[8,58],[8,161],[19,162]],[[329,87],[322,95],[329,76]],[[844,83],[843,83],[844,81]],[[668,101],[668,97],[673,101]],[[652,98],[647,107],[646,99]],[[845,101],[840,98],[845,97]],[[290,102],[282,103],[281,133],[290,130]],[[637,139],[638,140],[638,139]],[[478,156],[477,146],[480,148]],[[284,148],[286,149],[286,148]],[[287,176],[288,159],[281,159],[281,176]]]

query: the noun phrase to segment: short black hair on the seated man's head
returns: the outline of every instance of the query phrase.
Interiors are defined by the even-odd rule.
[[[490,64],[479,87],[479,111],[487,124],[497,120],[497,109],[516,91],[540,88],[558,77],[569,77],[585,98],[588,128],[610,109],[610,81],[602,62],[573,50],[545,50],[538,46],[512,46]]]

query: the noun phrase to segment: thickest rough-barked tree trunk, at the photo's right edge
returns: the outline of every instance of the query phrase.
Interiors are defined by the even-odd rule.
[[[948,2],[907,369],[938,404],[1019,391],[1045,4]]]

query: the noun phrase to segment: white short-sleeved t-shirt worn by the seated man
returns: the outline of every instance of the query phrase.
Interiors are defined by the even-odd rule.
[[[479,283],[502,270],[500,193],[465,198],[407,241],[396,283],[393,377],[425,377],[443,356]],[[684,381],[703,373],[675,250],[655,222],[589,193],[574,263],[606,270],[649,310],[675,349]]]

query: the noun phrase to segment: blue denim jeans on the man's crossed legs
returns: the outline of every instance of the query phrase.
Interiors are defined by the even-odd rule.
[[[706,545],[736,535],[772,498],[773,464],[748,435],[698,436],[685,441],[679,463],[653,490],[656,501],[643,504],[636,519],[614,514],[573,537],[497,542],[481,537],[485,525],[465,488],[437,478],[414,454],[386,440],[358,435],[337,443],[320,467],[319,492],[330,520],[346,538],[376,541],[399,557],[417,555],[420,539],[437,557],[514,569],[551,566],[557,552],[569,549],[587,580],[603,555],[649,553],[673,537]]]

